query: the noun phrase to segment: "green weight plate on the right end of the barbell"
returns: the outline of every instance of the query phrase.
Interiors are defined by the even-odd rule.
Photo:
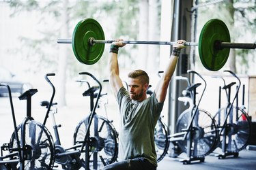
[[[210,71],[218,71],[229,58],[229,48],[214,48],[216,41],[230,42],[229,29],[222,20],[212,19],[205,23],[199,37],[199,56],[203,66]]]

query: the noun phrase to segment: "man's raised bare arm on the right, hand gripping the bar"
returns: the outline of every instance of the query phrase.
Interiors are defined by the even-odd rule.
[[[184,43],[185,41],[179,40],[177,41],[177,44],[173,45],[173,48],[177,50],[185,48]],[[167,95],[167,89],[169,87],[169,82],[171,81],[171,77],[173,76],[173,73],[175,71],[178,57],[179,57],[179,52],[177,51],[171,54],[171,57],[169,58],[169,63],[165,69],[165,72],[163,73],[162,77],[160,78],[155,88],[156,99],[158,99],[158,102],[160,103],[165,101],[165,97]]]

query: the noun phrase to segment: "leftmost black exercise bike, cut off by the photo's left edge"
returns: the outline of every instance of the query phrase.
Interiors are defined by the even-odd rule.
[[[8,84],[0,84],[0,86],[8,88],[14,122],[14,133],[10,143],[5,143],[1,147],[1,169],[52,169],[55,150],[51,134],[43,124],[31,117],[31,97],[38,90],[27,90],[18,97],[27,101],[27,116],[16,126],[10,87]],[[8,151],[9,154],[3,156],[3,151]]]

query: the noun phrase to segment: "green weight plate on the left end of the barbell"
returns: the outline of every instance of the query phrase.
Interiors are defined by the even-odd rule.
[[[105,44],[91,46],[89,38],[104,40],[104,32],[100,24],[91,18],[81,20],[73,32],[72,48],[76,59],[83,64],[93,65],[102,56]]]

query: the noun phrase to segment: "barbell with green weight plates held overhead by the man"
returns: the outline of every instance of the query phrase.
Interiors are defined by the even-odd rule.
[[[103,52],[104,44],[115,40],[105,40],[104,31],[99,22],[92,18],[81,20],[72,34],[72,39],[57,39],[59,44],[72,44],[76,59],[86,65],[97,63]],[[124,44],[173,45],[173,41],[123,41]],[[255,49],[255,43],[231,43],[229,30],[225,22],[211,19],[206,22],[199,36],[199,43],[186,42],[186,46],[198,46],[203,67],[218,71],[227,62],[230,48]]]

